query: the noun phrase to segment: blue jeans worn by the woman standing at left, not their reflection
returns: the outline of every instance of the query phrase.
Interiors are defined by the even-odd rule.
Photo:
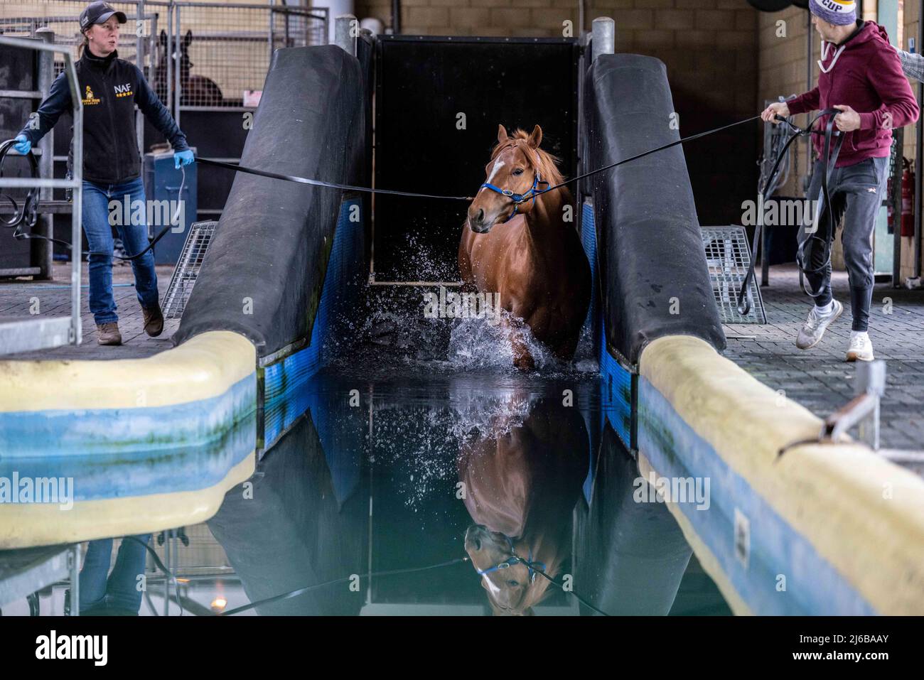
[[[125,201],[128,198],[128,208]],[[148,247],[147,202],[141,178],[122,184],[96,184],[83,182],[83,233],[87,235],[90,252],[90,310],[97,323],[117,322],[116,299],[113,297],[113,236],[109,222],[109,201],[118,201],[114,216],[118,235],[129,255]],[[132,203],[141,201],[145,208],[134,211]],[[132,219],[139,212],[140,220]],[[140,224],[138,224],[140,223]],[[135,290],[141,307],[157,305],[157,272],[154,270],[154,253],[148,250],[131,261],[135,273]]]

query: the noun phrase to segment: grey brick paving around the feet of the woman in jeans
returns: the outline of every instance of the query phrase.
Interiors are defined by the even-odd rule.
[[[113,295],[116,297],[119,331],[122,333],[121,346],[100,346],[96,342],[96,324],[87,302],[89,290],[86,262],[81,268],[84,287],[81,289],[83,304],[80,318],[83,323],[83,342],[79,346],[57,347],[40,352],[27,352],[2,356],[2,358],[33,359],[107,359],[107,358],[142,358],[169,349],[173,346],[170,336],[176,331],[179,321],[164,322],[164,333],[158,337],[148,337],[144,333],[141,321],[141,307],[135,295],[135,277],[130,265],[113,267]],[[173,267],[157,267],[157,287],[164,300],[167,285]],[[70,313],[70,265],[55,264],[54,281],[30,282],[28,279],[0,280],[0,322],[16,319],[34,318],[30,310],[38,309],[41,314],[49,316],[67,316]],[[36,308],[36,304],[38,307]]]

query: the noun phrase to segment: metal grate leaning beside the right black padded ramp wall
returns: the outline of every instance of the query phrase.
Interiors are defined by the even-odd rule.
[[[737,297],[750,266],[748,235],[743,226],[703,226],[702,246],[706,250],[712,295],[722,315],[723,323],[766,323],[767,314],[760,297],[757,277],[748,283],[750,310],[742,316],[738,311]]]

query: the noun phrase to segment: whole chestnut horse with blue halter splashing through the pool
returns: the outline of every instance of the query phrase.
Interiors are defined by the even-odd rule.
[[[500,293],[509,312],[502,327],[514,365],[535,368],[518,320],[562,360],[574,357],[590,305],[590,265],[574,222],[571,192],[556,160],[540,149],[542,130],[497,129],[487,179],[468,207],[459,243],[459,273],[467,290]],[[566,219],[566,214],[571,219]]]

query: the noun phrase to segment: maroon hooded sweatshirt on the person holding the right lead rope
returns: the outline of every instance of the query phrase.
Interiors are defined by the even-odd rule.
[[[840,45],[821,43],[818,87],[787,102],[793,115],[840,104],[860,115],[860,127],[846,133],[835,167],[888,156],[892,128],[903,128],[918,120],[918,102],[885,29],[875,21],[857,21],[857,27]],[[891,126],[886,114],[892,115]],[[816,128],[823,129],[827,117],[821,118]],[[812,137],[821,156],[824,138]]]

